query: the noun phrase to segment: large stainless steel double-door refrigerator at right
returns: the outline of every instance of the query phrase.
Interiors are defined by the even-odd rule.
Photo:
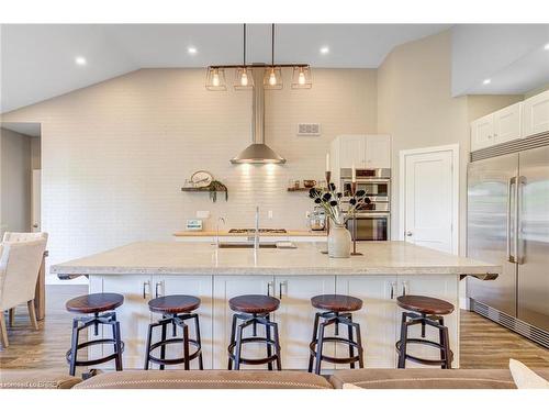
[[[468,256],[503,272],[468,279],[470,308],[549,347],[549,136],[471,157]]]

